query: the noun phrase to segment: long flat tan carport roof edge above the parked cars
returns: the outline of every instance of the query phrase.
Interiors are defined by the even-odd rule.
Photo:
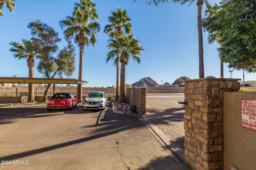
[[[0,83],[32,83],[32,84],[86,84],[83,80],[71,78],[28,78],[28,77],[0,77]]]

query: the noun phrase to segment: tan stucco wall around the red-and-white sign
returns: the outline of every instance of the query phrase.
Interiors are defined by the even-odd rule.
[[[224,92],[224,170],[256,169],[256,131],[242,127],[242,99],[256,100],[256,93]]]

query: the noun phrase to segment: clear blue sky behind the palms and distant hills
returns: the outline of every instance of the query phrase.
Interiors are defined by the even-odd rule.
[[[35,19],[52,26],[62,38],[58,43],[59,49],[67,45],[60,29],[59,21],[71,15],[74,3],[78,0],[17,0],[14,13],[3,7],[5,14],[0,17],[0,76],[28,77],[26,60],[18,60],[9,51],[10,41],[21,43],[21,38],[30,39],[30,29],[27,25]],[[132,18],[133,33],[145,51],[140,56],[142,64],[131,60],[126,65],[126,83],[132,84],[141,78],[151,77],[158,84],[169,82],[172,84],[177,78],[187,76],[191,79],[199,78],[198,71],[198,31],[196,2],[189,4],[164,3],[160,6],[146,5],[137,0],[93,0],[97,4],[96,10],[100,18],[100,33],[97,34],[95,47],[84,49],[83,80],[88,81],[84,87],[107,87],[116,84],[116,67],[112,61],[106,63],[106,48],[108,36],[103,33],[108,24],[110,11],[118,6],[126,9]],[[210,3],[218,3],[211,0]],[[205,6],[203,6],[205,8]],[[203,10],[204,11],[204,10]],[[204,16],[204,13],[202,13]],[[207,32],[203,34],[204,41],[204,74],[220,78],[220,60],[218,44],[208,45]],[[78,79],[79,48],[76,44],[76,70],[69,78]],[[37,61],[36,61],[37,65]],[[224,78],[230,78],[228,64],[224,63]],[[245,81],[255,80],[255,74],[245,73]],[[42,77],[34,69],[34,77]],[[66,77],[65,77],[66,78]],[[243,71],[234,70],[232,78],[243,80]]]

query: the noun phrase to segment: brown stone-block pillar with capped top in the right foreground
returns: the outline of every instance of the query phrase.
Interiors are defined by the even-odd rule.
[[[194,170],[223,169],[223,92],[240,79],[200,78],[185,82],[185,161]]]

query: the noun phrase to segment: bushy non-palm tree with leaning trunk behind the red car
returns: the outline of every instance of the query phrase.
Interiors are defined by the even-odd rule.
[[[68,45],[58,52],[57,43],[61,41],[58,33],[53,27],[40,20],[32,21],[28,24],[31,30],[32,40],[36,44],[39,63],[38,71],[47,78],[55,76],[71,76],[74,72],[75,49],[70,41]],[[44,92],[44,100],[47,101],[47,92],[51,84],[48,84]]]

